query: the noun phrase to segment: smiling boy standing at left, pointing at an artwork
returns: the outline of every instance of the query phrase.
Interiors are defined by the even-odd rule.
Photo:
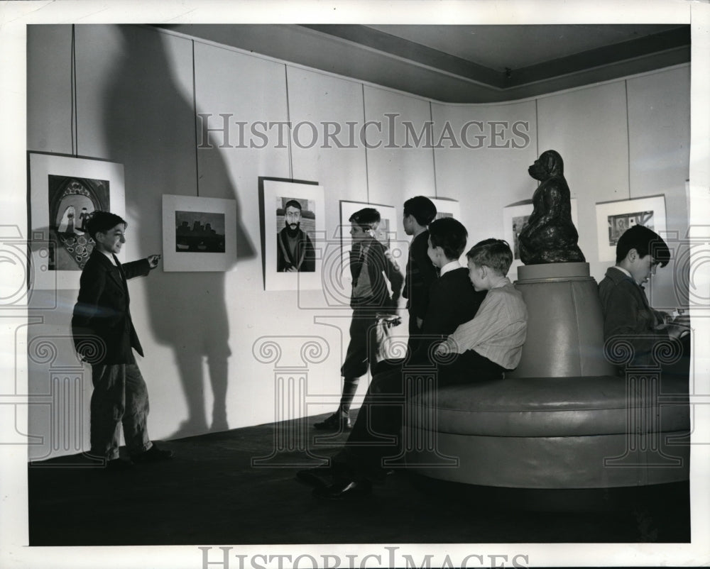
[[[136,463],[170,460],[172,451],[158,449],[148,438],[148,390],[136,365],[133,349],[143,348],[129,311],[126,280],[148,275],[160,255],[121,265],[116,253],[126,243],[124,219],[96,211],[87,223],[96,241],[82,271],[79,297],[72,316],[72,335],[77,353],[92,366],[91,451],[107,460],[110,470],[124,470],[132,463],[119,459],[119,428]]]

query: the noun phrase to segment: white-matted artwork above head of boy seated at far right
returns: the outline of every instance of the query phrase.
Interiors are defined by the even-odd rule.
[[[596,238],[600,261],[616,260],[616,243],[624,231],[643,225],[660,236],[666,231],[665,196],[596,204]]]

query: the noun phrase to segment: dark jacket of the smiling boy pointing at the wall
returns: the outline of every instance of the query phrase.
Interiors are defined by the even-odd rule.
[[[125,265],[119,263],[116,255],[114,260],[118,267],[100,251],[92,251],[82,271],[72,316],[75,348],[94,365],[134,363],[131,348],[143,355],[131,321],[126,279],[148,275],[151,265],[147,259]]]

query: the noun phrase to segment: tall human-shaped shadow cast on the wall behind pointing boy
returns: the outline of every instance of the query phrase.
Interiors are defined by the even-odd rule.
[[[141,254],[149,254],[154,252],[153,244],[157,249],[162,243],[162,195],[197,194],[195,109],[170,73],[162,35],[133,26],[117,29],[124,49],[104,94],[104,134],[109,156],[125,168],[126,215],[129,223],[136,222],[129,238],[149,243],[141,245]],[[209,187],[201,185],[200,195],[236,199],[236,188],[219,150],[200,152],[205,153],[200,155],[201,163],[210,168]],[[255,252],[241,226],[239,201],[236,214],[237,258],[252,258]],[[160,269],[145,281],[153,333],[175,351],[189,411],[169,438],[229,429],[226,393],[231,351],[224,281],[224,272]],[[204,358],[214,397],[209,418]]]

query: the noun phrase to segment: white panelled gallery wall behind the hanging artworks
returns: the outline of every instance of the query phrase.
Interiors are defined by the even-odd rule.
[[[525,101],[453,105],[153,28],[75,30],[78,154],[124,165],[124,260],[160,253],[163,194],[236,201],[237,260],[229,271],[158,268],[129,284],[146,351],[139,365],[151,394],[153,438],[268,423],[337,405],[351,313],[329,304],[322,291],[264,291],[260,176],[324,187],[326,238],[337,245],[340,200],[392,205],[400,216],[403,201],[417,194],[457,199],[472,245],[503,236],[503,207],[532,197],[536,182],[528,166],[554,148],[564,158],[579,206],[580,246],[597,280],[609,265],[598,260],[597,202],[665,194],[667,227],[680,237],[687,231],[689,65]],[[71,35],[71,26],[28,26],[30,151],[72,153]],[[221,130],[221,115],[228,117],[228,131]],[[251,140],[263,148],[251,148],[249,139],[239,148],[240,121],[247,129],[256,121],[308,122],[320,132],[310,148],[307,126],[299,145],[288,131],[279,144],[270,130],[268,143]],[[367,121],[382,125],[381,133],[376,125],[366,131],[373,148],[359,136],[353,145],[323,148],[322,123],[339,125],[339,140],[346,142],[348,123],[359,129]],[[404,123],[418,133],[432,122],[436,142],[445,128],[459,136],[470,121],[486,128],[525,123],[527,141],[518,136],[513,140],[521,148],[505,148],[509,130],[495,140],[487,131],[481,148],[452,148],[450,140],[442,148],[403,148]],[[473,141],[479,131],[469,133]],[[406,239],[401,219],[398,238]],[[650,291],[656,306],[678,304],[674,270],[658,271]],[[76,296],[76,290],[32,295],[28,345],[51,337],[58,348],[50,360],[28,349],[31,393],[46,394],[51,403],[30,409],[33,459],[88,448],[90,373],[78,365],[69,336]],[[314,338],[327,357],[304,362],[300,346]],[[278,362],[255,355],[255,343],[266,340],[283,346]],[[62,391],[56,370],[78,377],[72,385],[80,387]],[[305,404],[295,411],[275,408],[275,376],[284,370],[307,377]]]

